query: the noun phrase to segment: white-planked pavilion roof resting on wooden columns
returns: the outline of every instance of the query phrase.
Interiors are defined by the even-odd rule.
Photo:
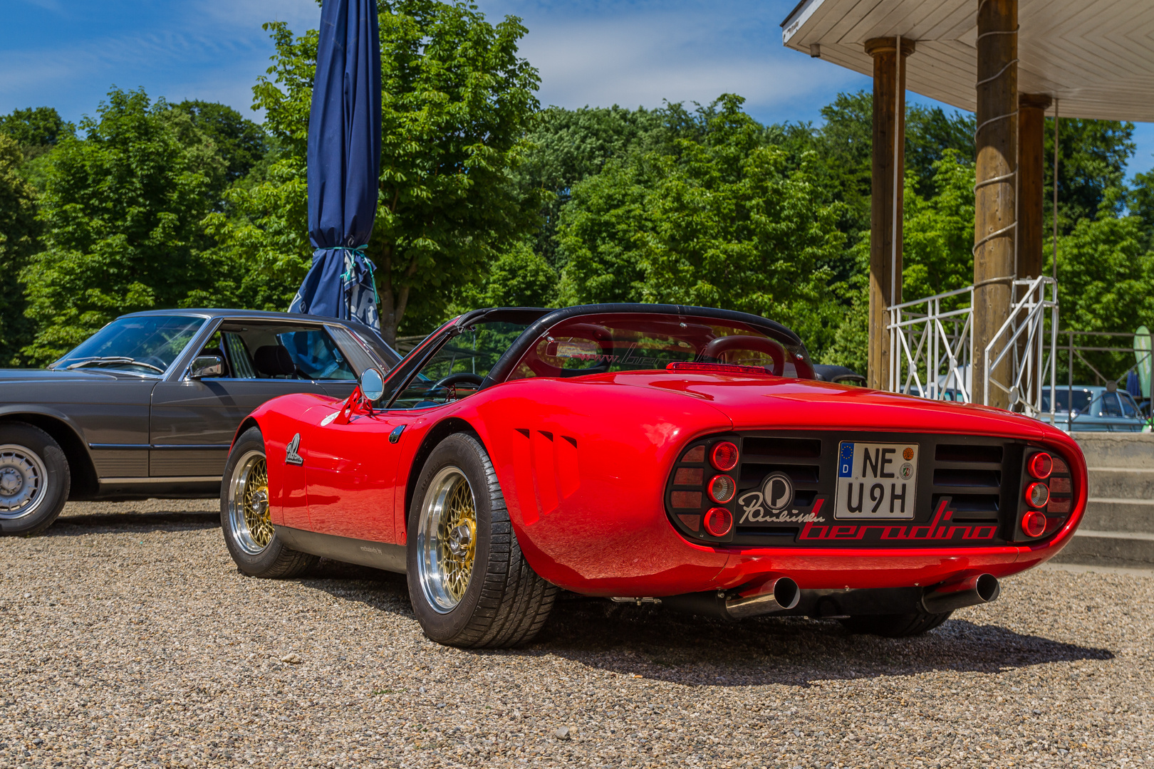
[[[1152,0],[1019,0],[1018,25],[1019,92],[1057,97],[1063,116],[1154,121]],[[781,23],[786,46],[863,75],[865,40],[896,35],[917,45],[907,89],[974,111],[977,0],[802,0]]]

